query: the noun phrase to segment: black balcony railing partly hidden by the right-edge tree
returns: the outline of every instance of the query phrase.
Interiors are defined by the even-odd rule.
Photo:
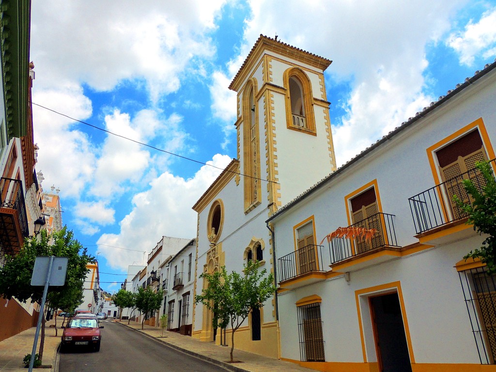
[[[495,161],[495,159],[490,161],[493,169],[496,167]],[[465,191],[463,180],[471,180],[479,190],[486,185],[485,178],[477,168],[474,168],[408,198],[417,234],[467,217],[467,214],[453,202],[454,195],[465,203],[473,202]]]

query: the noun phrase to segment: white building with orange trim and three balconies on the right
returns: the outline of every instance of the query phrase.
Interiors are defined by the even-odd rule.
[[[452,202],[469,201],[461,180],[482,182],[475,163],[496,158],[495,67],[267,220],[283,359],[319,371],[496,371],[481,366],[496,360],[495,276],[462,259],[485,237]]]

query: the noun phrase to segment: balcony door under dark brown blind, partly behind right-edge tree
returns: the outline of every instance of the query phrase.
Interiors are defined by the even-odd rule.
[[[465,203],[470,201],[462,181],[471,179],[476,187],[485,186],[484,177],[479,171],[469,172],[475,168],[477,162],[488,160],[479,130],[476,129],[465,134],[437,150],[435,154],[439,164],[439,173],[444,183],[444,191],[448,198],[446,204],[451,209],[453,220],[464,218],[466,215],[453,202],[454,195],[457,195]]]

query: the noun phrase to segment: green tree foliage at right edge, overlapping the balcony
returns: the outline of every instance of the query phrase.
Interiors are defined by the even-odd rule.
[[[467,224],[473,225],[479,234],[487,235],[480,248],[471,250],[463,258],[479,258],[486,264],[490,275],[496,273],[496,180],[488,162],[479,162],[476,168],[484,179],[482,187],[475,185],[473,180],[463,180],[472,202],[464,203],[457,195],[453,196],[453,200],[468,215]]]

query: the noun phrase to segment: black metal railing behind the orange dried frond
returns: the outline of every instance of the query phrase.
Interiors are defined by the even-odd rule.
[[[376,213],[365,220],[349,226],[350,228],[360,227],[367,230],[374,229],[376,230],[376,233],[372,237],[365,238],[363,236],[355,236],[350,238],[333,238],[329,242],[331,264],[379,248],[399,248],[396,243],[393,217],[393,214]]]

